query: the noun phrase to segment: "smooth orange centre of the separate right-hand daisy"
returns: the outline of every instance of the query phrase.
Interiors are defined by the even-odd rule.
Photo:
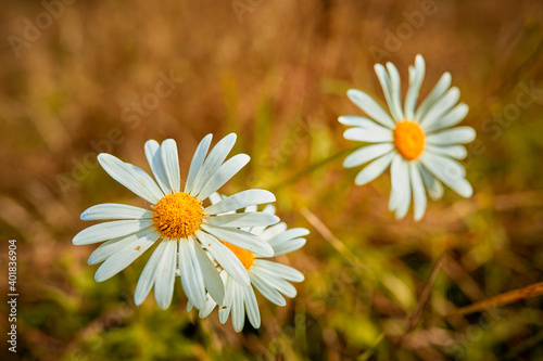
[[[394,145],[405,159],[418,159],[425,151],[425,131],[413,120],[400,121],[394,129]]]

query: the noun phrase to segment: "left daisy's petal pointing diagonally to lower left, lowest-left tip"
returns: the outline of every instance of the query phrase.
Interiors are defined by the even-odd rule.
[[[138,237],[134,242],[113,254],[98,268],[94,280],[97,282],[105,281],[124,270],[149,249],[157,237],[153,230],[144,230],[138,233]]]

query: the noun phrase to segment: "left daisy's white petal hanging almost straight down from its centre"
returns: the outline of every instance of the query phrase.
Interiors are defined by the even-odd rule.
[[[174,296],[176,256],[177,241],[166,241],[166,248],[156,265],[154,283],[154,298],[163,310],[169,307]]]

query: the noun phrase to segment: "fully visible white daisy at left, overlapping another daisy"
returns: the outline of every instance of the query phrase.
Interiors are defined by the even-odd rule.
[[[198,145],[182,191],[177,144],[172,139],[165,140],[162,146],[154,140],[146,143],[146,156],[156,181],[142,169],[113,155],[98,155],[100,165],[113,179],[149,202],[151,207],[100,204],[81,214],[83,220],[118,219],[91,225],[73,240],[75,245],[106,241],[88,260],[89,265],[103,262],[96,272],[97,282],[117,274],[161,240],[138,281],[136,305],[146,299],[154,285],[156,302],[161,308],[167,308],[178,268],[185,294],[201,309],[206,305],[206,289],[217,302],[223,302],[225,295],[218,270],[206,252],[240,284],[250,284],[239,258],[217,240],[226,240],[248,252],[268,257],[274,255],[270,245],[240,228],[275,224],[278,217],[264,212],[222,215],[249,205],[275,202],[274,194],[247,190],[209,207],[203,206],[213,192],[249,162],[245,154],[225,162],[236,142],[235,133],[222,139],[207,154],[211,140],[212,134],[207,134]]]

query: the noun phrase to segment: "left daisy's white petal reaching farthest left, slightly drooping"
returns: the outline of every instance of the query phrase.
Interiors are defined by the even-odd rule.
[[[72,243],[76,246],[126,236],[153,225],[152,219],[127,219],[104,222],[77,233]]]

